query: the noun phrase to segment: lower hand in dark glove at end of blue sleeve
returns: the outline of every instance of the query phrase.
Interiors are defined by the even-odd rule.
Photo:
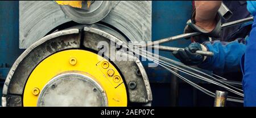
[[[186,65],[198,65],[207,58],[207,56],[203,56],[201,54],[197,54],[197,50],[203,50],[207,51],[207,47],[197,43],[193,42],[188,47],[185,47],[185,49],[180,49],[178,51],[172,52],[172,54],[180,60],[180,62],[186,64]]]

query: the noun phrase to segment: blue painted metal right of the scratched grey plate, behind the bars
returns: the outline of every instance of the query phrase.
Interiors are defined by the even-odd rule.
[[[152,1],[152,41],[182,34],[191,12],[191,1]],[[189,40],[179,40],[163,45],[185,47],[189,43],[191,43]],[[176,60],[171,53],[166,51],[159,51],[159,55]],[[142,64],[150,82],[170,82],[171,73],[160,65],[156,68],[148,68],[148,62],[142,62]]]

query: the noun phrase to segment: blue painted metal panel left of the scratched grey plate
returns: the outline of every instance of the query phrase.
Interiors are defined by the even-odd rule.
[[[24,50],[19,49],[19,1],[0,1],[0,80]],[[0,83],[0,96],[2,95]],[[1,100],[0,100],[1,103]]]

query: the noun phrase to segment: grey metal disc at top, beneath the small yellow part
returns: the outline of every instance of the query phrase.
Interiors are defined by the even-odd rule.
[[[105,18],[112,10],[112,1],[94,1],[88,10],[61,5],[61,10],[73,21],[93,24]]]

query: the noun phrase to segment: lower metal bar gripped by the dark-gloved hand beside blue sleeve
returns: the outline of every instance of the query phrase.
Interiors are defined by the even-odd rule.
[[[157,50],[163,50],[163,51],[178,51],[178,50],[184,50],[183,48],[179,47],[170,47],[170,46],[153,46],[153,49]],[[197,50],[196,53],[204,55],[204,56],[213,56],[213,53],[211,51],[201,51]]]

